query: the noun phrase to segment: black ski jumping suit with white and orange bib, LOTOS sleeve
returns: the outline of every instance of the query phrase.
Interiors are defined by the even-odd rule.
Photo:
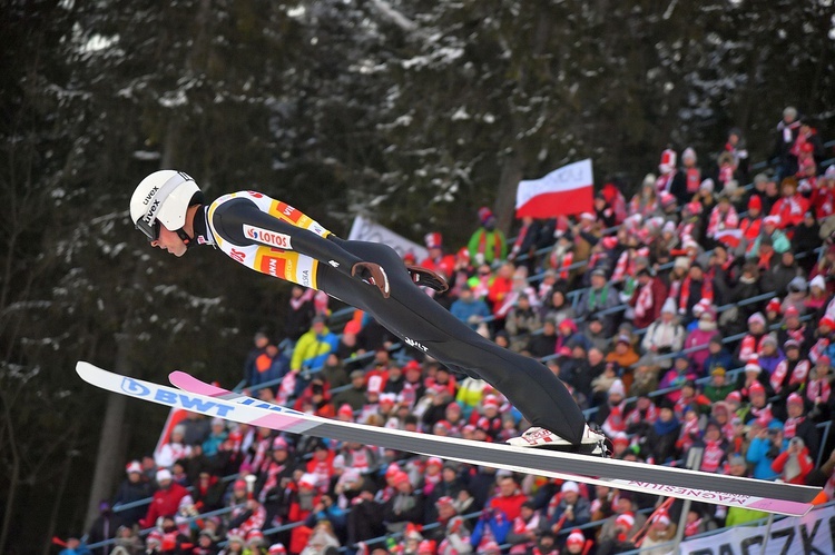
[[[203,237],[205,226],[210,234]],[[483,338],[432,300],[391,247],[340,239],[292,206],[254,191],[215,200],[205,222],[195,218],[195,231],[198,244],[214,242],[256,271],[321,289],[366,311],[407,345],[488,381],[531,425],[580,443],[586,419],[562,381],[538,360]],[[375,262],[385,270],[387,298],[352,276],[357,262]]]

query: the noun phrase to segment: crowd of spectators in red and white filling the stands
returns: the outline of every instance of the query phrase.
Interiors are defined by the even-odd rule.
[[[608,182],[593,210],[525,218],[512,244],[482,208],[466,246],[448,252],[429,234],[429,257],[406,261],[446,277],[449,291],[426,294],[459,319],[547,364],[612,456],[816,484],[832,498],[821,425],[835,408],[835,166],[824,171],[821,139],[792,108],[772,171],[749,175],[737,129],[717,150],[703,165],[691,148],[680,165],[665,150],[631,198]],[[294,287],[288,310],[282,346],[258,333],[246,358],[265,402],[481,442],[527,426],[500,392],[402,349],[362,313],[331,330],[321,293]],[[117,537],[127,554],[666,553],[657,546],[680,513],[607,487],[189,415],[155,456],[128,464],[88,543]],[[763,516],[692,505],[684,536]]]

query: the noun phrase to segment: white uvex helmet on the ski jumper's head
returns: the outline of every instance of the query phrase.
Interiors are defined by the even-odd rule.
[[[139,184],[130,197],[130,219],[149,241],[159,238],[159,225],[178,231],[186,225],[191,198],[200,192],[197,184],[183,171],[155,171]]]

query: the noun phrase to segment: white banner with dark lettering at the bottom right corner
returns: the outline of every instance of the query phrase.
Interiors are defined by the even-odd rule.
[[[766,532],[768,543],[766,544]],[[766,551],[763,552],[763,544]],[[779,555],[789,553],[835,553],[835,506],[813,511],[806,516],[775,522],[770,531],[763,526],[737,526],[721,534],[681,543],[681,555]]]

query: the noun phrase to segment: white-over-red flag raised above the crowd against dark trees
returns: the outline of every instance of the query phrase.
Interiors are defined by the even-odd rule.
[[[569,163],[541,179],[520,181],[517,218],[551,218],[593,211],[591,159]]]

